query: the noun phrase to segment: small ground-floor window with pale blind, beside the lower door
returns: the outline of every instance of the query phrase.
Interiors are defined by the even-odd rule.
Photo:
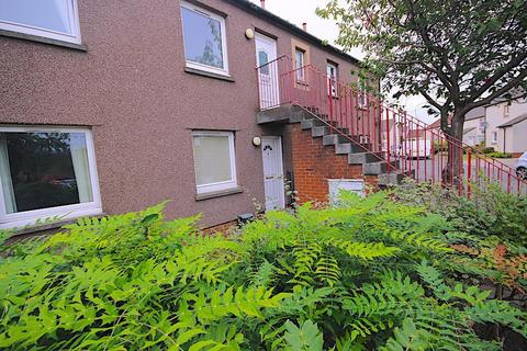
[[[237,186],[233,132],[193,132],[198,194]]]

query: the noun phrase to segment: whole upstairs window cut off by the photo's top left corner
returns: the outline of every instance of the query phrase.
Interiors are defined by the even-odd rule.
[[[80,44],[77,0],[0,0],[0,30]]]

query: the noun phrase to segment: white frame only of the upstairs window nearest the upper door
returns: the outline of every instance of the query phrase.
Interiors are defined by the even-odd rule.
[[[183,50],[184,50],[184,61],[186,66],[189,68],[193,69],[199,69],[199,70],[204,70],[208,72],[216,73],[216,75],[222,75],[222,76],[228,76],[228,55],[227,55],[227,27],[225,25],[225,18],[218,15],[217,13],[211,12],[209,10],[205,10],[201,7],[198,7],[193,3],[187,2],[187,1],[181,1],[181,8],[184,8],[187,10],[197,12],[201,15],[206,15],[213,20],[216,20],[220,22],[220,31],[222,32],[222,59],[223,59],[223,69],[209,66],[209,65],[203,65],[200,63],[195,63],[192,60],[187,59],[187,46],[184,45],[184,25],[183,25],[183,13],[181,11],[181,35],[183,38]]]

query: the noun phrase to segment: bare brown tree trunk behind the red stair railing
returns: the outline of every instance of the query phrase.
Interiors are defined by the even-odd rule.
[[[464,115],[453,113],[452,121],[448,128],[444,128],[445,136],[448,140],[448,160],[442,170],[442,182],[446,186],[462,192],[463,186],[463,125]]]

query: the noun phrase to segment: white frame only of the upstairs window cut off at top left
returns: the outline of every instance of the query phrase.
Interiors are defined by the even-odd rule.
[[[79,26],[79,11],[77,0],[68,0],[69,23],[71,25],[71,33],[61,33],[45,27],[33,26],[25,23],[16,23],[0,20],[0,30],[10,32],[30,34],[35,36],[47,37],[60,42],[68,42],[74,44],[81,44],[80,26]]]

